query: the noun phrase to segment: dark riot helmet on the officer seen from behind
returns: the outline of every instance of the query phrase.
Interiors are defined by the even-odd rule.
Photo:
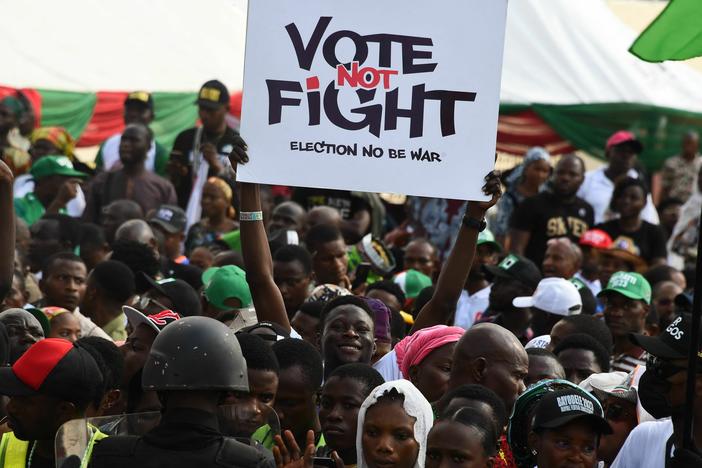
[[[142,385],[156,391],[249,391],[234,331],[208,317],[185,317],[164,327],[151,346]]]

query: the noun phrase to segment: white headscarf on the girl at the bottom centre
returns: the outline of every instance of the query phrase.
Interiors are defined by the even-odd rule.
[[[417,455],[414,468],[424,468],[424,460],[427,453],[427,436],[431,426],[434,424],[434,414],[427,399],[409,380],[391,380],[375,387],[361,405],[361,409],[358,411],[358,426],[356,429],[357,468],[368,467],[368,463],[363,457],[363,422],[366,420],[366,411],[378,402],[378,398],[392,389],[395,389],[400,395],[404,395],[405,401],[402,403],[402,407],[408,415],[415,419],[414,440],[419,444],[419,454]]]

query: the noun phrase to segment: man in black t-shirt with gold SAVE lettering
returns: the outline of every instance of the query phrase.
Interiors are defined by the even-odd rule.
[[[510,249],[537,265],[543,262],[546,242],[568,237],[578,242],[593,225],[592,207],[576,196],[583,183],[585,163],[563,156],[553,173],[552,189],[527,198],[510,220]]]

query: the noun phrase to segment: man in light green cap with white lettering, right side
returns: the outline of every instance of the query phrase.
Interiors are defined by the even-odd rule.
[[[614,338],[612,371],[631,372],[646,365],[646,352],[629,340],[630,333],[644,333],[651,304],[651,285],[638,273],[618,271],[597,295]]]

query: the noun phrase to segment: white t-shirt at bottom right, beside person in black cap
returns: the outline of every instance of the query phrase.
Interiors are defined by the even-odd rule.
[[[666,445],[673,435],[673,422],[661,419],[639,424],[631,431],[611,468],[662,468]],[[671,447],[670,454],[675,450]]]

